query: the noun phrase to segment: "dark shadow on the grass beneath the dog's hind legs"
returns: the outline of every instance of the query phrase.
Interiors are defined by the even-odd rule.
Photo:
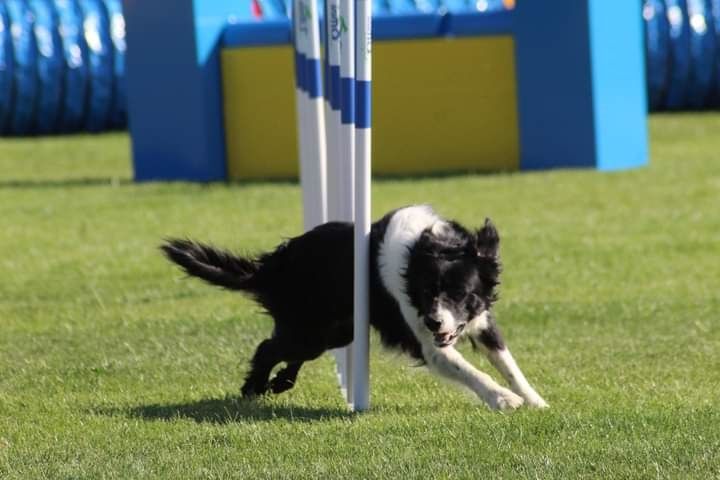
[[[245,423],[284,419],[295,422],[318,422],[349,418],[351,413],[343,408],[309,408],[296,405],[278,405],[263,398],[239,397],[210,398],[178,404],[151,404],[128,409],[105,410],[104,413],[125,414],[144,420],[189,419],[198,423]]]

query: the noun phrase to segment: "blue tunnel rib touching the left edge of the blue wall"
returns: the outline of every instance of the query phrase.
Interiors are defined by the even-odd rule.
[[[105,0],[110,18],[110,37],[113,43],[113,95],[110,107],[110,126],[127,125],[127,89],[125,86],[125,17],[120,0]]]

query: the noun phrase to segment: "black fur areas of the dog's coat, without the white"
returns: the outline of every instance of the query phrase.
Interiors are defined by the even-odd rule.
[[[395,212],[373,224],[370,234],[370,324],[383,344],[423,361],[421,344],[383,285],[378,258]],[[442,235],[429,229],[408,251],[406,292],[432,331],[437,302],[472,318],[495,300],[499,238],[488,221],[477,232],[448,222]],[[247,258],[189,240],[167,240],[165,255],[189,275],[253,296],[273,318],[270,338],[260,343],[243,395],[280,393],[295,384],[306,361],[343,347],[353,337],[353,228],[330,222],[287,240],[274,251]],[[497,334],[499,338],[499,333]],[[477,341],[485,342],[478,338]],[[493,345],[502,345],[502,340]],[[489,346],[489,345],[488,345]],[[273,368],[287,366],[269,379]]]

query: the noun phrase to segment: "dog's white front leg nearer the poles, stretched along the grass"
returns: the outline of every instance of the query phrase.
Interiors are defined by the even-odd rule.
[[[521,397],[473,367],[451,346],[424,345],[423,356],[432,371],[465,385],[494,410],[513,410],[523,404]]]

